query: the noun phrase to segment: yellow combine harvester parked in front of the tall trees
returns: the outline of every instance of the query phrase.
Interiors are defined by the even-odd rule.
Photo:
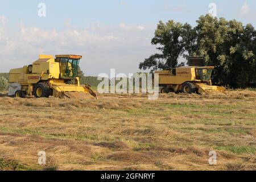
[[[160,93],[210,93],[225,92],[222,86],[212,85],[214,67],[180,67],[158,71]]]

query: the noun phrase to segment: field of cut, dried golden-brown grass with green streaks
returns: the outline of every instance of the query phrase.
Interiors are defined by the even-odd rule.
[[[254,91],[0,102],[1,170],[256,170]]]

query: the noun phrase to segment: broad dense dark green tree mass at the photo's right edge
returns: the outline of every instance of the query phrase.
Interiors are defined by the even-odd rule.
[[[255,30],[236,20],[201,16],[197,20],[197,54],[218,71],[214,82],[245,87],[255,79]]]

